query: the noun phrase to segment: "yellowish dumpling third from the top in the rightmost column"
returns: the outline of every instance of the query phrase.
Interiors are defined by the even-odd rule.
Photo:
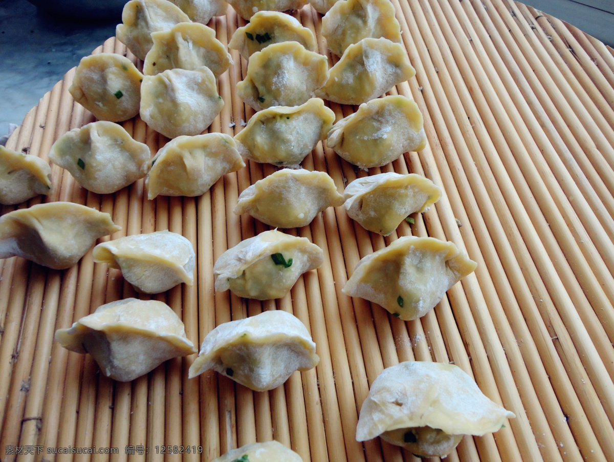
[[[405,96],[371,100],[333,125],[326,146],[360,168],[381,167],[426,147],[422,113]]]

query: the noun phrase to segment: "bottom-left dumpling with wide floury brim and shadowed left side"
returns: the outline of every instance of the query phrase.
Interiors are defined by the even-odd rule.
[[[75,353],[90,353],[107,377],[130,382],[164,361],[196,353],[184,323],[166,303],[125,299],[96,308],[55,340]]]

